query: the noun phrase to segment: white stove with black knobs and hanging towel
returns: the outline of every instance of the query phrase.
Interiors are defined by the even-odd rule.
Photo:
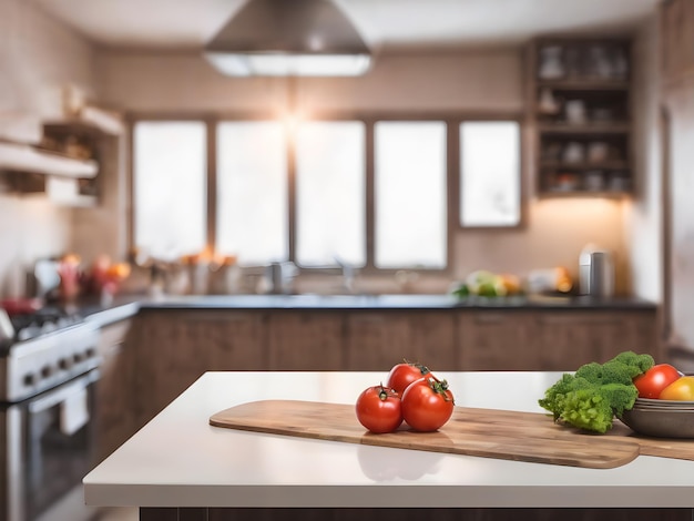
[[[12,318],[0,344],[0,521],[57,519],[92,468],[99,328],[47,308]],[[2,480],[0,480],[2,481]]]

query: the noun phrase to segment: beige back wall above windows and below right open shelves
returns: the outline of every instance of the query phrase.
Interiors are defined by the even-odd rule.
[[[520,115],[524,110],[521,49],[384,52],[363,78],[303,79],[296,104],[314,111],[469,111]],[[141,113],[269,111],[280,114],[290,95],[284,79],[231,79],[198,55],[108,52],[99,61],[100,91],[108,103]],[[527,224],[513,231],[456,228],[453,278],[474,269],[525,275],[567,266],[578,275],[586,243],[614,252],[619,289],[629,290],[622,204],[614,201],[535,201],[531,181]],[[445,292],[451,280],[420,278],[416,290]],[[308,286],[305,286],[308,288]],[[394,279],[371,280],[368,290],[399,290]]]

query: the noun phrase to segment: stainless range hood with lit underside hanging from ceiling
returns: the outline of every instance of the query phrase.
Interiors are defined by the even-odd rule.
[[[205,45],[232,76],[353,76],[371,54],[330,0],[249,0]]]

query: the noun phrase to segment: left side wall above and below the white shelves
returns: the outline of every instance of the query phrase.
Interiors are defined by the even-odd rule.
[[[0,1],[0,115],[60,113],[67,83],[91,92],[93,52],[30,0]],[[70,247],[71,211],[0,193],[0,296],[23,292],[23,268]]]

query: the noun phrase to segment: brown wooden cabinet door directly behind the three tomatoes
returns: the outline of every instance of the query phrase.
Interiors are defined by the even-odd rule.
[[[456,316],[452,310],[351,311],[345,370],[387,371],[402,359],[458,370]]]

